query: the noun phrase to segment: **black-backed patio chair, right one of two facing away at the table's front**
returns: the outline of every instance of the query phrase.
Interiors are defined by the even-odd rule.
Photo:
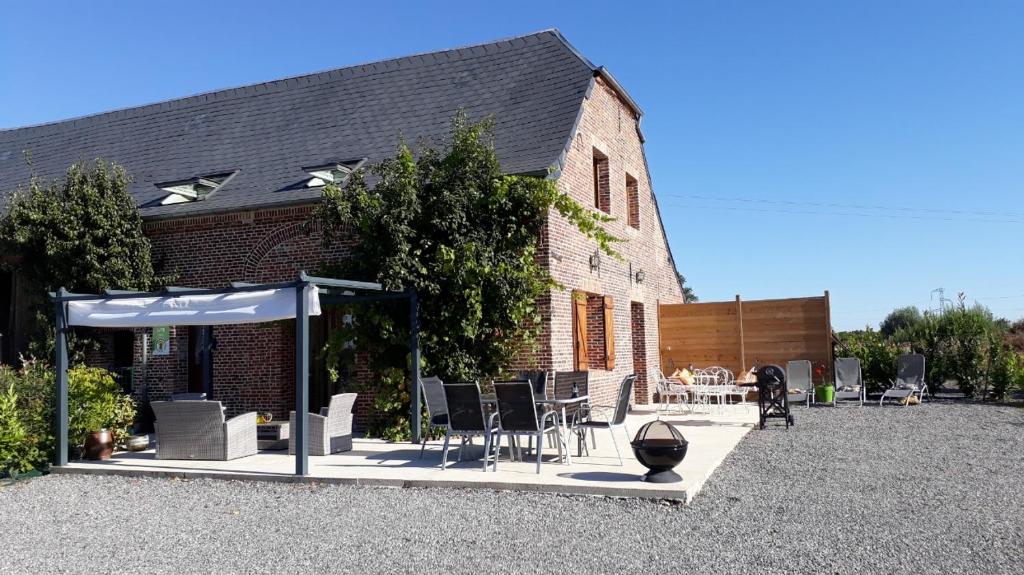
[[[501,451],[502,436],[509,437],[509,452],[516,436],[528,435],[537,438],[537,473],[541,473],[544,456],[544,436],[555,434],[559,458],[562,448],[568,449],[562,439],[562,428],[554,411],[541,415],[537,412],[537,401],[530,382],[495,382],[495,397],[498,400],[498,437],[495,440],[495,471],[498,471],[498,454]],[[486,469],[486,468],[484,468]]]

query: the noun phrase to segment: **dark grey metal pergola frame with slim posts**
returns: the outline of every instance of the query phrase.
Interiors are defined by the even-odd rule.
[[[344,290],[343,294],[324,294],[321,301],[328,304],[358,303],[386,300],[409,300],[410,339],[409,349],[412,354],[411,373],[412,397],[410,426],[413,443],[419,443],[420,438],[420,322],[419,303],[416,291],[407,289],[402,292],[385,292],[380,283],[367,281],[351,281],[330,277],[315,277],[300,271],[297,279],[276,283],[245,283],[231,282],[227,288],[202,289],[168,286],[159,292],[129,292],[108,290],[102,295],[73,294],[63,288],[50,293],[50,301],[54,306],[56,331],[54,345],[54,369],[56,371],[56,413],[55,435],[56,453],[54,465],[68,465],[68,302],[87,300],[123,300],[133,298],[167,298],[175,296],[205,296],[217,294],[239,294],[245,292],[261,292],[264,290],[295,290],[295,475],[304,476],[309,473],[309,444],[306,428],[309,412],[309,290],[313,285]],[[356,295],[354,291],[380,292],[372,295]],[[184,325],[185,323],[182,323]]]

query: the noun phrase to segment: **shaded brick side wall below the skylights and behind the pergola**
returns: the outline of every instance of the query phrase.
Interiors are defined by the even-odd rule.
[[[146,222],[154,264],[175,273],[175,283],[219,288],[230,281],[294,279],[314,270],[325,256],[341,259],[347,246],[325,251],[319,231],[308,228],[309,207],[289,207]],[[153,356],[136,337],[136,386],[150,400],[187,389],[187,327],[171,328],[167,356]],[[217,325],[213,389],[228,415],[270,411],[287,417],[295,401],[295,322]],[[144,389],[142,389],[144,388]]]

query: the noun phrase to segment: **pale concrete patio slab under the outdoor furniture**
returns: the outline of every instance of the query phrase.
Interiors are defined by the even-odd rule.
[[[287,451],[260,451],[256,455],[230,461],[191,461],[157,459],[151,450],[116,453],[102,461],[73,461],[54,473],[111,474],[126,476],[216,478],[282,482],[315,482],[382,487],[460,487],[548,493],[646,497],[692,500],[715,469],[736,447],[757,422],[756,405],[727,405],[719,411],[702,413],[658,412],[653,406],[639,406],[628,418],[631,433],[645,423],[660,417],[677,426],[689,441],[686,459],[676,469],[683,481],[673,484],[649,484],[640,481],[645,469],[633,456],[629,441],[621,431],[615,440],[624,465],[618,466],[615,450],[606,431],[597,432],[597,448],[590,454],[575,456],[572,463],[558,462],[557,449],[545,446],[541,473],[530,461],[510,461],[503,450],[498,473],[481,471],[478,458],[482,441],[467,449],[467,460],[455,462],[453,449],[446,470],[439,467],[441,442],[427,445],[423,458],[420,446],[356,438],[352,451],[309,457],[309,475],[297,477],[294,457]],[[549,455],[550,453],[550,455]]]

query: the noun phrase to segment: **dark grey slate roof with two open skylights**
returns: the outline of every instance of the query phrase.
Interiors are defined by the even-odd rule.
[[[303,186],[301,167],[373,163],[393,154],[399,134],[436,140],[460,107],[473,118],[495,115],[506,172],[544,173],[559,162],[601,73],[549,30],[0,130],[0,194],[28,181],[24,151],[31,150],[35,172],[46,177],[82,159],[124,165],[146,219],[308,202],[319,190]],[[206,200],[152,205],[166,195],[156,182],[234,170]]]

